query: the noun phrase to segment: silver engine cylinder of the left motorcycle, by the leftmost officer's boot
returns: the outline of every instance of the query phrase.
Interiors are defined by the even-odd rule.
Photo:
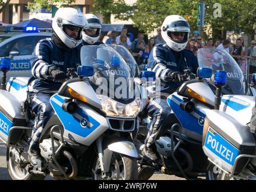
[[[59,142],[57,140],[53,141],[54,151],[56,151],[59,147]],[[52,140],[44,139],[43,142],[39,144],[40,153],[43,158],[46,160],[52,159]]]

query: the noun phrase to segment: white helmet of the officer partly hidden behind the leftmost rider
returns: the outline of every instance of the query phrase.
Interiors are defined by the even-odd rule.
[[[82,32],[83,40],[89,44],[94,44],[100,38],[100,32],[102,31],[102,22],[94,14],[85,14],[85,18],[87,19],[87,21],[89,23],[89,29],[84,29],[84,31]],[[87,35],[85,33],[85,31],[90,30],[90,29],[97,29],[96,34],[95,35]]]

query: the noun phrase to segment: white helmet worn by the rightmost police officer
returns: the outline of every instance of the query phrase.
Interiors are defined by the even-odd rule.
[[[167,16],[163,21],[163,25],[161,26],[162,32],[161,35],[165,43],[176,52],[180,52],[187,45],[187,41],[189,40],[189,23],[178,15]],[[177,41],[171,38],[171,32],[185,32],[184,40]]]

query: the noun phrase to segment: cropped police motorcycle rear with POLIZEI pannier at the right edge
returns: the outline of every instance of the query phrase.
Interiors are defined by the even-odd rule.
[[[255,97],[221,95],[222,89],[227,86],[226,78],[225,71],[215,73],[216,106],[207,112],[204,122],[203,151],[210,161],[207,178],[255,180],[255,129],[250,126],[255,121],[255,116],[251,115]],[[250,86],[254,86],[255,83],[256,74],[253,74]]]

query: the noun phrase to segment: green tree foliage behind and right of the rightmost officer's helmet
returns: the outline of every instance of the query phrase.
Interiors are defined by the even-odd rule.
[[[162,25],[170,14],[178,14],[188,20],[191,31],[198,29],[197,14],[199,0],[138,0],[132,16],[133,22],[145,32],[152,32]],[[204,30],[212,26],[214,31],[252,32],[256,20],[255,0],[203,0],[206,4]],[[215,3],[221,4],[221,17],[214,17]],[[213,34],[214,35],[214,34]]]

